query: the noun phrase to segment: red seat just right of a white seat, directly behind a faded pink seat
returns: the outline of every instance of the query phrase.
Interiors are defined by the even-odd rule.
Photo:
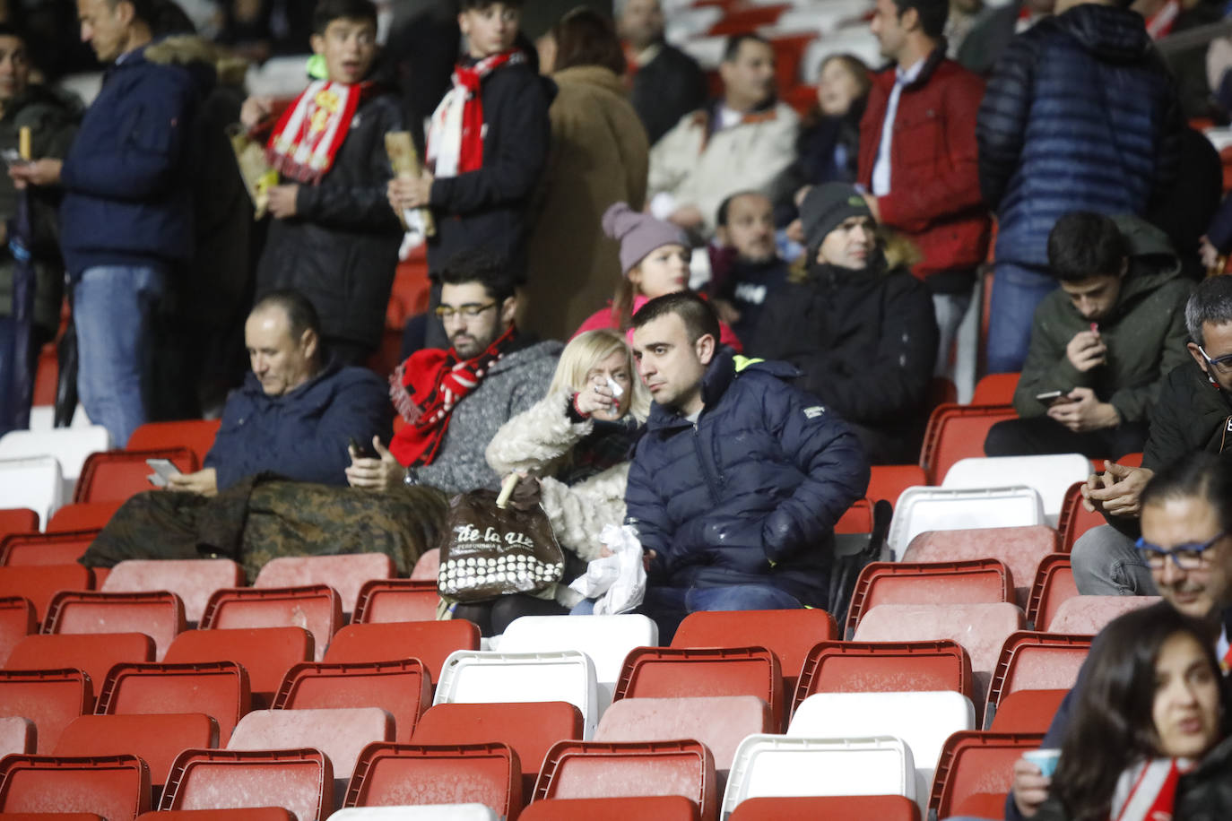
[[[756,695],[770,705],[774,726],[784,726],[782,671],[765,647],[637,647],[625,657],[612,700],[690,695]]]

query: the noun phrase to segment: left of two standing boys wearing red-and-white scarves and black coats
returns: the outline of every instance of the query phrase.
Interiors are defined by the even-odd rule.
[[[254,132],[274,122],[266,155],[283,180],[270,188],[257,293],[303,292],[326,346],[350,363],[379,345],[402,236],[386,201],[384,135],[403,130],[404,116],[371,79],[376,36],[371,0],[320,0],[308,89],[276,121],[267,97],[249,97],[240,113]]]

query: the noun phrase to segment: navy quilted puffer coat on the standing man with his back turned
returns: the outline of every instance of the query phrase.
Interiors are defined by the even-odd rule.
[[[1046,267],[1071,210],[1143,215],[1177,176],[1177,91],[1142,17],[1082,4],[1019,34],[979,106],[979,187],[997,260]]]

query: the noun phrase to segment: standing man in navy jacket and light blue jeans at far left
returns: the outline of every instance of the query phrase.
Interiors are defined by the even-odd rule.
[[[90,419],[115,447],[147,421],[143,359],[175,263],[192,254],[188,134],[213,66],[158,64],[145,47],[155,0],[78,0],[81,39],[111,63],[68,156],[12,172],[60,185],[60,250],[73,283]]]

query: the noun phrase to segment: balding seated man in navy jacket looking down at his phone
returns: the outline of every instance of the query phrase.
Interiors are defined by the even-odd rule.
[[[303,294],[275,290],[257,302],[244,324],[253,372],[227,400],[205,469],[171,479],[171,490],[213,496],[266,470],[346,485],[347,446],[388,439],[393,409],[375,373],[328,357],[320,338]]]

